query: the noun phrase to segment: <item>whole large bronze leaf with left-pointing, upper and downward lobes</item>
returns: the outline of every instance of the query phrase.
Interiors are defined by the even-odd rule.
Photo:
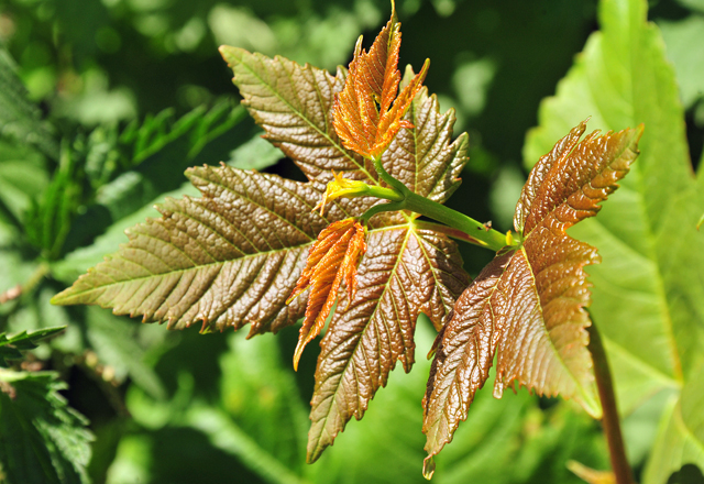
[[[397,44],[398,28],[388,32],[389,42]],[[129,242],[56,295],[55,304],[97,304],[116,314],[142,316],[145,322],[168,321],[169,329],[200,323],[204,330],[222,331],[251,324],[250,337],[277,332],[304,317],[305,294],[290,305],[286,300],[319,233],[378,202],[339,198],[324,213],[311,211],[332,170],[349,180],[378,184],[372,163],[345,147],[333,128],[332,107],[348,75],[342,68],[332,76],[238,47],[222,46],[220,52],[264,138],[308,182],[229,166],[190,168],[187,176],[201,197],[167,199],[160,207],[162,218],[129,229]],[[395,70],[396,61],[389,63],[381,53],[374,58]],[[409,75],[402,84],[415,78]],[[405,111],[396,121],[414,128],[396,130],[381,156],[382,166],[414,193],[443,202],[460,185],[468,136],[452,140],[452,111],[440,113],[436,97],[425,88],[405,92],[406,100],[397,99],[398,108],[394,105],[388,112],[396,109],[396,117]],[[369,249],[356,268],[356,293],[339,292],[320,342],[310,462],[353,416],[362,418],[396,362],[410,371],[418,315],[425,312],[440,329],[469,284],[457,244],[417,217],[375,216],[367,230]]]

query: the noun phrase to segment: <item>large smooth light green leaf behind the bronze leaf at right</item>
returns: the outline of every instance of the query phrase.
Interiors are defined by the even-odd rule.
[[[642,0],[600,7],[602,31],[540,108],[524,155],[535,160],[571,120],[645,124],[641,155],[600,217],[572,229],[598,248],[591,315],[605,340],[622,413],[697,378],[704,360],[704,189],[692,169],[672,66]],[[668,418],[667,416],[664,417]],[[674,465],[674,463],[672,463]]]

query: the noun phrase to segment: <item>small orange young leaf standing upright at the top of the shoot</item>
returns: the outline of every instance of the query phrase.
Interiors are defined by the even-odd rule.
[[[413,128],[403,117],[422,87],[429,61],[396,97],[399,47],[400,23],[393,11],[369,53],[362,51],[362,37],[356,42],[344,89],[334,102],[338,135],[345,147],[366,158],[378,158],[402,128]]]

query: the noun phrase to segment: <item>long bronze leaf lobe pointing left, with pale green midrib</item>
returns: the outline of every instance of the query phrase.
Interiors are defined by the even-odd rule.
[[[191,168],[188,176],[201,198],[167,199],[162,219],[130,229],[127,245],[53,301],[98,304],[176,329],[252,322],[251,334],[276,332],[302,316],[305,299],[285,300],[318,232],[369,207],[339,200],[323,218],[311,212],[322,184],[228,166]]]

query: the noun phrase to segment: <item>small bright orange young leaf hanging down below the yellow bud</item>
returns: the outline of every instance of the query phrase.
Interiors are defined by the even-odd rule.
[[[306,267],[287,300],[290,302],[312,286],[306,307],[306,319],[300,328],[298,345],[294,353],[295,370],[298,370],[298,360],[306,344],[320,334],[338,298],[342,280],[348,288],[349,300],[354,297],[356,264],[365,252],[364,228],[354,219],[333,222],[318,234],[318,240],[310,248]]]

